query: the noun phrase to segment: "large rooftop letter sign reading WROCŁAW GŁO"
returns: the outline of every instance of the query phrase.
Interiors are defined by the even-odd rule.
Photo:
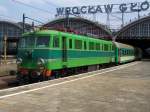
[[[56,8],[56,15],[66,14],[96,14],[96,13],[131,13],[146,11],[150,8],[150,2],[138,3],[122,3],[122,4],[107,4],[95,6],[74,6],[74,7],[60,7]]]

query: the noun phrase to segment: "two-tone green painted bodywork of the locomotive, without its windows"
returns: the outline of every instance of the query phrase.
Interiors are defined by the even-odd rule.
[[[23,36],[30,37],[35,36],[40,38],[40,36],[50,37],[49,47],[37,48],[36,46],[30,48],[19,48],[18,57],[23,59],[21,67],[28,69],[38,69],[37,60],[39,58],[45,59],[46,63],[44,67],[49,70],[62,69],[64,65],[68,68],[80,67],[95,64],[104,64],[110,62],[119,63],[120,57],[119,48],[116,46],[113,48],[114,44],[112,41],[106,41],[102,39],[95,39],[88,36],[81,36],[71,33],[64,33],[53,30],[42,30],[33,33],[26,33]],[[54,38],[58,37],[59,47],[54,48]],[[66,48],[67,48],[67,61],[62,61],[62,37],[66,38]],[[72,39],[72,48],[69,48],[69,39]],[[75,40],[82,41],[81,49],[75,49]],[[94,50],[89,50],[89,43],[94,43]],[[86,49],[84,47],[86,44]],[[100,48],[96,50],[96,45],[100,45]],[[107,50],[106,50],[107,48]],[[32,52],[32,56],[29,58],[26,52]],[[109,53],[107,53],[109,52]],[[125,59],[131,60],[130,58]]]

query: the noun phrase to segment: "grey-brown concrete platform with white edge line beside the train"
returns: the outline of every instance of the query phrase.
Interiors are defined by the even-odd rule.
[[[150,112],[150,61],[0,90],[0,112]]]

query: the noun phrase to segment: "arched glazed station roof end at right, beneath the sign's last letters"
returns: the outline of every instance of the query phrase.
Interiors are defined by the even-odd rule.
[[[116,37],[119,40],[150,39],[150,16],[130,22],[118,31]]]

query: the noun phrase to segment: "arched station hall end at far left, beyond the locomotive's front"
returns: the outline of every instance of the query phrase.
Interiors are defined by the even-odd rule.
[[[26,31],[31,29],[31,26],[25,24]],[[4,53],[4,37],[7,37],[7,54],[16,54],[18,40],[22,35],[22,23],[11,21],[0,21],[0,55]]]

